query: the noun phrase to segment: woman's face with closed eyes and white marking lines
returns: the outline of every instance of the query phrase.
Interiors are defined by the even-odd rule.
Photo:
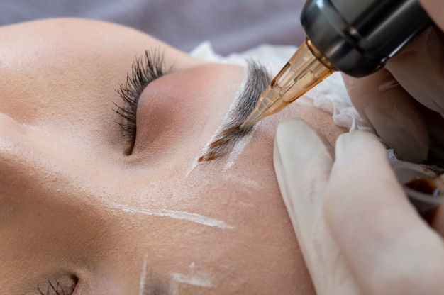
[[[140,95],[132,138],[116,111],[135,108],[116,90],[145,50],[172,70]],[[243,67],[109,23],[52,20],[0,28],[0,73],[2,292],[312,292],[274,176],[277,118],[196,165]],[[286,116],[332,140],[341,131],[303,99]]]

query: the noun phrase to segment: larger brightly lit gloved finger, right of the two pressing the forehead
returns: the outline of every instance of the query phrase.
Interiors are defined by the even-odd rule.
[[[363,294],[440,294],[443,240],[406,199],[379,140],[340,135],[326,218]]]

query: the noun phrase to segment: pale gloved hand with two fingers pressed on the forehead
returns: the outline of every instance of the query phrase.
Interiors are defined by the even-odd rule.
[[[277,128],[274,167],[317,294],[444,294],[443,239],[374,135],[345,133],[333,150],[289,119]]]

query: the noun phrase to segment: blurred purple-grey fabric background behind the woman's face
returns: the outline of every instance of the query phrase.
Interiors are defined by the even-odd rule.
[[[92,18],[143,30],[187,52],[209,40],[226,55],[264,43],[299,46],[303,5],[304,0],[0,0],[0,25]]]

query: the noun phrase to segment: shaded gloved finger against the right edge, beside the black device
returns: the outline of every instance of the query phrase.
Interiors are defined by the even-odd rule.
[[[438,34],[437,28],[427,28],[385,67],[414,99],[444,113],[444,46]]]

